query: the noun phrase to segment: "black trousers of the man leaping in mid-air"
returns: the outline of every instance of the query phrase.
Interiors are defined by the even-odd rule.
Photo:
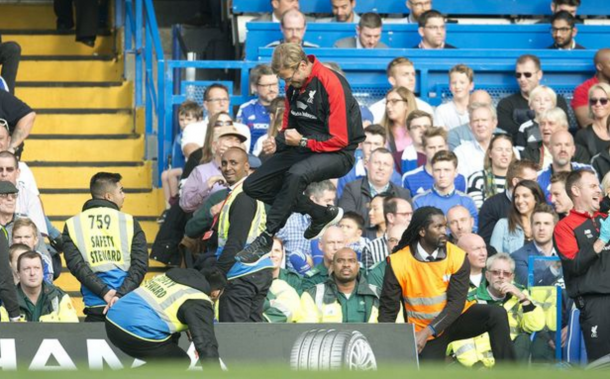
[[[303,195],[310,183],[340,178],[354,166],[353,152],[314,153],[289,147],[274,154],[244,182],[248,196],[271,205],[267,232],[277,233],[293,212],[320,215],[325,207]]]

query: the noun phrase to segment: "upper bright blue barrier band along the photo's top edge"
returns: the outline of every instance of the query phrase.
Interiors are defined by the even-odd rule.
[[[434,9],[455,16],[541,16],[550,15],[549,0],[434,0]],[[329,0],[301,1],[304,13],[331,13]],[[271,12],[269,0],[233,0],[233,14]],[[405,0],[358,0],[356,12],[401,13],[408,14]],[[579,16],[607,16],[610,3],[605,0],[583,1],[578,8]]]

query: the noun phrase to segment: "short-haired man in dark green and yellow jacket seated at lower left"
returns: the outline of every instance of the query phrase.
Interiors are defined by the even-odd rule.
[[[70,296],[43,280],[42,265],[40,254],[33,251],[21,254],[17,261],[17,300],[21,319],[28,322],[78,322]],[[0,319],[8,319],[4,307],[0,308]]]

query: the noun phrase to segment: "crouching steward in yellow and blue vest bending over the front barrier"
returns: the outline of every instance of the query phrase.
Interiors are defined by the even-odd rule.
[[[125,354],[146,362],[191,361],[178,346],[189,331],[202,364],[219,364],[214,302],[226,285],[217,268],[173,268],[119,299],[106,316],[106,334]]]

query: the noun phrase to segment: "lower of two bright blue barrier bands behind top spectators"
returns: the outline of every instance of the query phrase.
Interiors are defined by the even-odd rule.
[[[459,2],[463,3],[463,2]],[[609,2],[610,3],[610,2]],[[249,22],[246,24],[246,59],[255,59],[257,49],[282,39],[279,24]],[[320,47],[333,47],[345,37],[356,34],[356,26],[346,23],[309,23],[305,40]],[[610,26],[579,25],[576,40],[590,50],[608,47]],[[409,49],[417,46],[421,37],[414,24],[385,24],[381,41],[390,48]],[[536,25],[466,25],[448,24],[447,42],[459,49],[547,49],[553,44],[549,24]],[[569,54],[569,52],[563,52]]]

